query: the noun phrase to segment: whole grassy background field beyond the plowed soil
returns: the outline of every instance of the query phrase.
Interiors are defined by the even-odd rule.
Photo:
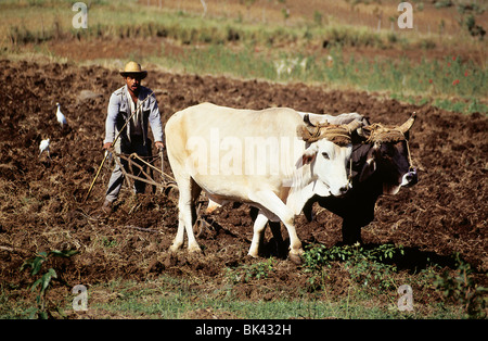
[[[397,1],[207,0],[206,12],[196,0],[87,3],[88,28],[75,29],[69,1],[5,1],[3,52],[111,67],[132,58],[178,72],[319,83],[487,112],[484,3],[413,2],[412,29],[398,28]]]

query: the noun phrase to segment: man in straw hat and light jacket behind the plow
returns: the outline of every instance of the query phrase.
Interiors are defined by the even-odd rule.
[[[147,72],[142,71],[140,64],[136,62],[127,63],[120,75],[124,77],[126,85],[111,96],[103,148],[108,150],[121,130],[115,141],[115,151],[121,154],[137,153],[139,156],[147,156],[151,150],[151,141],[147,139],[147,123],[151,125],[155,147],[164,148],[163,127],[156,97],[151,89],[141,85],[141,80],[147,76]],[[130,118],[131,116],[132,118]],[[128,119],[129,122],[127,122]],[[127,125],[124,127],[126,122]],[[126,172],[129,172],[128,162],[120,159],[120,164]],[[132,168],[134,172],[140,171],[137,166]],[[123,182],[123,171],[116,165],[108,181],[102,206],[104,213],[112,213],[112,204],[117,199]],[[136,180],[136,194],[144,193],[144,191],[145,182]]]

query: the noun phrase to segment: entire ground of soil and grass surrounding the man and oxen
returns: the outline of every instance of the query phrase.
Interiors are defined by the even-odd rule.
[[[396,26],[397,1],[207,0],[206,12],[198,0],[86,3],[87,29],[73,27],[72,1],[0,3],[0,316],[486,316],[485,3],[412,1],[410,30]],[[164,123],[203,101],[356,111],[387,124],[416,111],[420,182],[377,202],[362,247],[341,245],[341,222],[328,211],[316,207],[310,224],[299,217],[303,266],[283,258],[268,235],[264,257],[246,257],[245,205],[206,217],[214,225],[198,237],[204,256],[169,254],[172,195],[138,201],[125,189],[116,213],[102,217],[105,167],[82,203],[103,157],[108,97],[131,59],[150,71],[144,81]],[[55,122],[55,102],[67,130]],[[38,157],[46,137],[51,161]],[[38,274],[28,265],[20,271],[50,250],[78,254],[47,255]],[[49,268],[59,278],[48,291],[30,290]],[[86,313],[70,306],[79,283],[89,292]],[[413,289],[413,313],[397,308],[403,283]]]

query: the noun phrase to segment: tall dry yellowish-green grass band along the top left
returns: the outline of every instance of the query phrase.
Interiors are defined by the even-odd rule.
[[[88,28],[74,29],[72,1],[16,1],[0,4],[3,21],[0,40],[14,43],[40,42],[62,37],[147,38],[166,37],[185,45],[241,43],[279,47],[290,43],[322,43],[385,48],[406,40],[391,39],[390,34],[344,25],[297,26],[245,23],[226,17],[167,11],[140,5],[134,0],[88,1]]]

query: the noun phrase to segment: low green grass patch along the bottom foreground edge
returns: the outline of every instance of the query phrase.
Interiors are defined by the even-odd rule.
[[[215,290],[202,292],[191,289],[181,281],[181,288],[168,286],[168,281],[181,279],[162,276],[158,279],[139,282],[114,280],[108,283],[91,286],[88,290],[87,315],[94,318],[144,318],[174,319],[197,318],[192,313],[210,310],[220,318],[248,319],[290,319],[290,318],[350,318],[350,319],[398,319],[398,318],[459,318],[455,307],[437,307],[402,313],[396,302],[382,305],[373,296],[357,289],[350,289],[345,298],[328,300],[323,295],[304,294],[303,299],[280,298],[272,301],[241,300],[232,294],[232,288],[226,292]],[[259,281],[258,281],[259,282]],[[262,285],[266,285],[260,280]],[[1,300],[1,296],[0,296]],[[59,304],[65,313],[72,312],[73,295]],[[1,312],[0,318],[28,318],[31,307],[24,302],[10,304],[9,311]],[[418,306],[415,306],[418,307]],[[78,313],[82,317],[82,313]]]

